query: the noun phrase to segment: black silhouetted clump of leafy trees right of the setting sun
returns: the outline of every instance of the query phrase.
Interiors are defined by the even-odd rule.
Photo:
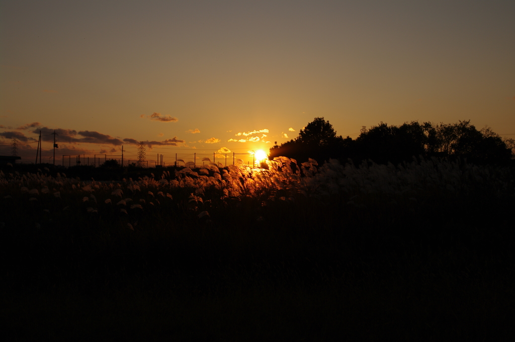
[[[296,139],[270,148],[270,159],[279,156],[294,158],[298,162],[313,158],[319,163],[330,158],[359,164],[372,160],[378,164],[399,164],[422,156],[438,158],[466,158],[476,164],[505,164],[512,160],[513,139],[503,141],[499,134],[485,127],[477,130],[468,121],[454,124],[432,124],[417,121],[401,126],[388,126],[381,122],[363,129],[357,139],[337,136],[333,126],[323,117],[300,130]]]

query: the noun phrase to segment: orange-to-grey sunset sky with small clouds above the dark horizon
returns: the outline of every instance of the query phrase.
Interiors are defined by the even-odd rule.
[[[515,138],[512,0],[8,0],[0,39],[0,155],[40,129],[57,164],[268,151],[319,116],[351,138],[468,119]]]

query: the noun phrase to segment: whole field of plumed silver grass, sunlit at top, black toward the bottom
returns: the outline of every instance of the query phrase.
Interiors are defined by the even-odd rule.
[[[122,181],[0,170],[18,340],[508,340],[513,169],[279,157]],[[62,172],[64,170],[65,173]]]

